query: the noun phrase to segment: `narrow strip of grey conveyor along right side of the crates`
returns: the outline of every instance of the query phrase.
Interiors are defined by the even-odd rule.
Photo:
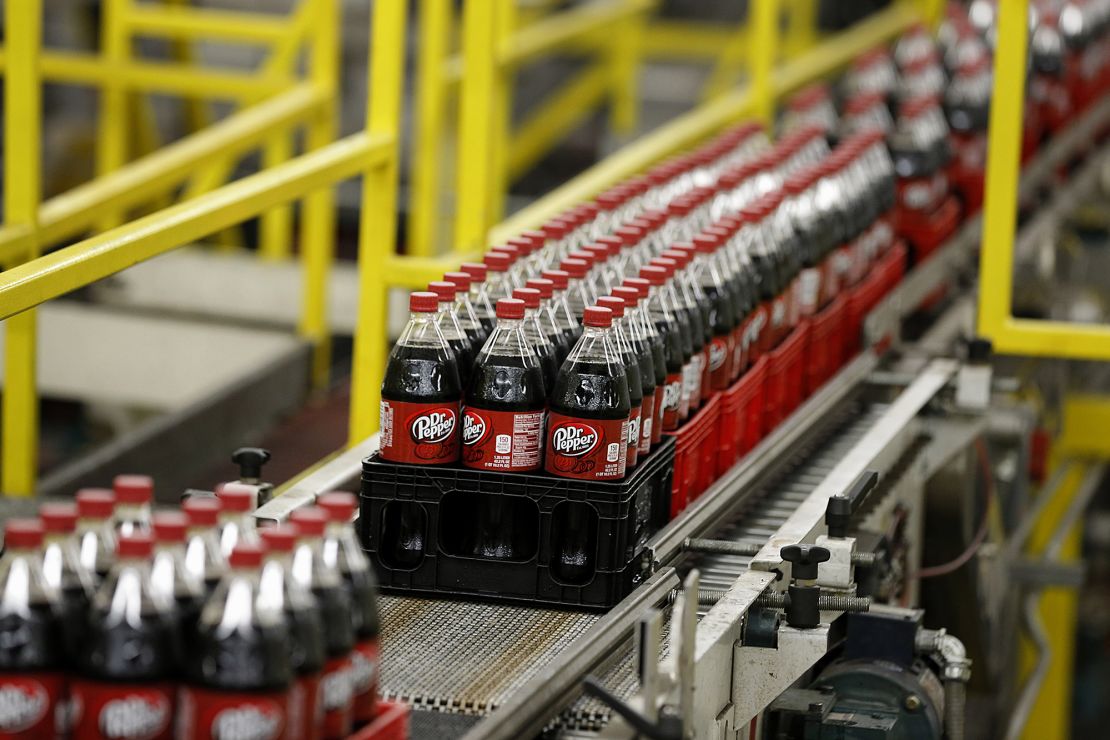
[[[875,404],[864,413],[846,422],[830,439],[817,446],[811,454],[799,454],[798,465],[785,476],[766,486],[744,510],[733,518],[722,530],[714,533],[714,539],[726,539],[737,543],[758,543],[761,545],[774,531],[786,521],[787,517],[806,499],[833,467],[855,446],[870,429],[875,422],[887,409],[887,406]],[[702,571],[703,589],[725,589],[747,569],[751,558],[730,555],[702,556],[697,567]],[[699,610],[705,616],[708,607]],[[670,624],[669,607],[663,615],[663,648],[660,659],[669,651],[668,627]],[[635,660],[632,640],[624,646],[620,658],[602,676],[602,682],[613,693],[629,699],[636,692],[639,682],[636,678]],[[567,708],[557,721],[565,730],[593,731],[599,730],[609,719],[609,709],[592,697],[578,698]]]

